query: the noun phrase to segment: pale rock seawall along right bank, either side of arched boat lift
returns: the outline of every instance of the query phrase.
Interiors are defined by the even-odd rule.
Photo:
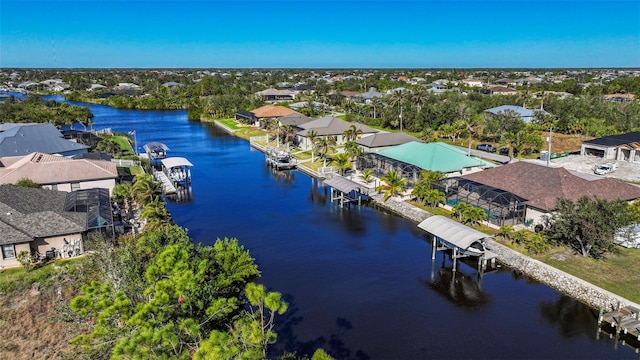
[[[374,194],[371,198],[375,201],[377,206],[393,211],[415,223],[420,223],[432,216],[427,211],[404,201],[396,201],[395,199],[388,199],[387,201],[384,201],[382,194]],[[509,266],[514,270],[521,271],[531,278],[595,309],[601,307],[605,311],[611,311],[618,307],[627,305],[640,308],[639,304],[613,294],[571,274],[567,274],[553,266],[532,259],[493,240],[489,240],[487,242],[487,248],[498,255],[498,261],[500,263]]]

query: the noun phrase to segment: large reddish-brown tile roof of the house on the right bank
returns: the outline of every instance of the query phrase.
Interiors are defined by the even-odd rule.
[[[462,178],[509,191],[527,199],[529,206],[550,211],[558,198],[576,201],[582,196],[607,200],[640,198],[640,187],[612,178],[586,180],[565,168],[516,162],[472,173]]]

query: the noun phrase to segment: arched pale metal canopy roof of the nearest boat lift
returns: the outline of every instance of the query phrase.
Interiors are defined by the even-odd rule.
[[[490,235],[441,215],[429,217],[418,224],[418,227],[438,237],[441,241],[462,250],[469,249],[475,243],[484,245],[485,240],[491,238]]]

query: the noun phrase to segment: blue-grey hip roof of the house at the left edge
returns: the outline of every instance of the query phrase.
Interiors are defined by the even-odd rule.
[[[20,156],[34,151],[74,156],[89,146],[65,139],[53,124],[0,124],[0,157]]]

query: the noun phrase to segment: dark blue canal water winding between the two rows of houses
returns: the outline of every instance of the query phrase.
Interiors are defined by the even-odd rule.
[[[61,98],[56,98],[62,100]],[[479,279],[438,254],[415,224],[371,207],[340,209],[328,189],[274,172],[245,140],[184,111],[85,104],[94,129],[136,131],[138,149],[165,143],[194,164],[189,199],[169,202],[194,241],[235,237],[255,257],[289,311],[283,349],[323,348],[337,359],[637,359],[607,337],[596,314],[508,268]]]

